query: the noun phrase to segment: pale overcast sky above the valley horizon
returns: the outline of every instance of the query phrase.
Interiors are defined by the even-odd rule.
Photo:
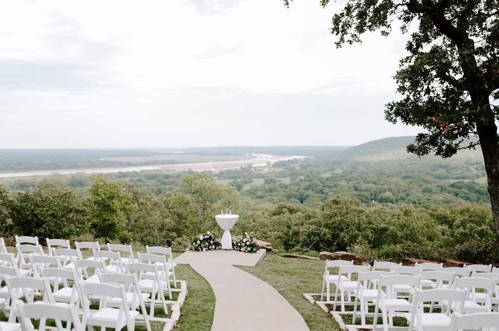
[[[419,132],[383,112],[399,98],[406,37],[336,49],[335,10],[1,1],[0,148],[357,145]]]

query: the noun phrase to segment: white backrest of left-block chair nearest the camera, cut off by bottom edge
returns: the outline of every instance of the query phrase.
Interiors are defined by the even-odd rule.
[[[44,330],[44,320],[52,319],[57,321],[67,321],[66,328],[59,330],[74,330],[85,331],[85,328],[80,322],[76,307],[72,304],[69,306],[58,306],[52,304],[17,304],[19,312],[19,323],[23,331],[35,330],[31,319],[40,320],[39,330]],[[71,329],[71,326],[73,329]]]

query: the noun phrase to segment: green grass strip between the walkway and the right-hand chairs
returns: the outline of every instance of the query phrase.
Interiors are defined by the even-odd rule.
[[[310,331],[340,330],[329,314],[303,297],[303,293],[320,292],[323,261],[267,254],[255,267],[240,268],[276,289],[301,314]]]

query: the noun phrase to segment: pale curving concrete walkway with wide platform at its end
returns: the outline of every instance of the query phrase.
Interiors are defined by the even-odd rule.
[[[188,251],[175,259],[190,264],[215,294],[212,331],[309,331],[301,315],[270,285],[233,266],[255,266],[265,251]]]

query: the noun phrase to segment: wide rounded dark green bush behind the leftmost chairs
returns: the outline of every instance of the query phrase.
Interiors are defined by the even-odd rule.
[[[44,183],[18,194],[12,201],[11,218],[16,233],[40,239],[89,231],[84,200],[65,185]]]

